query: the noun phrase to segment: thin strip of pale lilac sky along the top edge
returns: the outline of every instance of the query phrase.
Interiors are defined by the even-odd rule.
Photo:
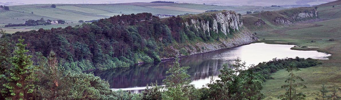
[[[151,2],[151,1],[174,1],[178,3],[214,4],[214,5],[292,5],[292,4],[322,4],[336,0],[1,0],[1,5],[23,5],[23,4],[103,4],[103,3],[129,3],[129,2]],[[301,3],[298,3],[301,2]]]

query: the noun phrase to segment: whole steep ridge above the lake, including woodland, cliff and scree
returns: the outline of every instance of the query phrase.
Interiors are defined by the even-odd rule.
[[[241,15],[232,11],[164,19],[151,13],[118,15],[75,27],[17,32],[1,39],[17,41],[19,37],[26,40],[34,57],[36,52],[47,56],[54,51],[59,65],[73,71],[128,67],[257,40],[243,28]]]

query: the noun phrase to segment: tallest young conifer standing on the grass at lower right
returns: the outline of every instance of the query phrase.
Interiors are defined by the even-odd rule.
[[[289,66],[287,66],[286,71],[288,71],[289,77],[285,80],[285,83],[288,83],[287,85],[282,85],[281,88],[285,89],[286,92],[284,95],[279,95],[278,99],[281,100],[306,100],[306,95],[303,93],[297,93],[296,87],[302,86],[303,88],[307,88],[306,85],[303,85],[302,83],[295,83],[298,79],[299,81],[304,81],[301,77],[296,76],[293,72],[294,71],[301,71],[299,68],[296,67],[294,63],[291,63]]]

